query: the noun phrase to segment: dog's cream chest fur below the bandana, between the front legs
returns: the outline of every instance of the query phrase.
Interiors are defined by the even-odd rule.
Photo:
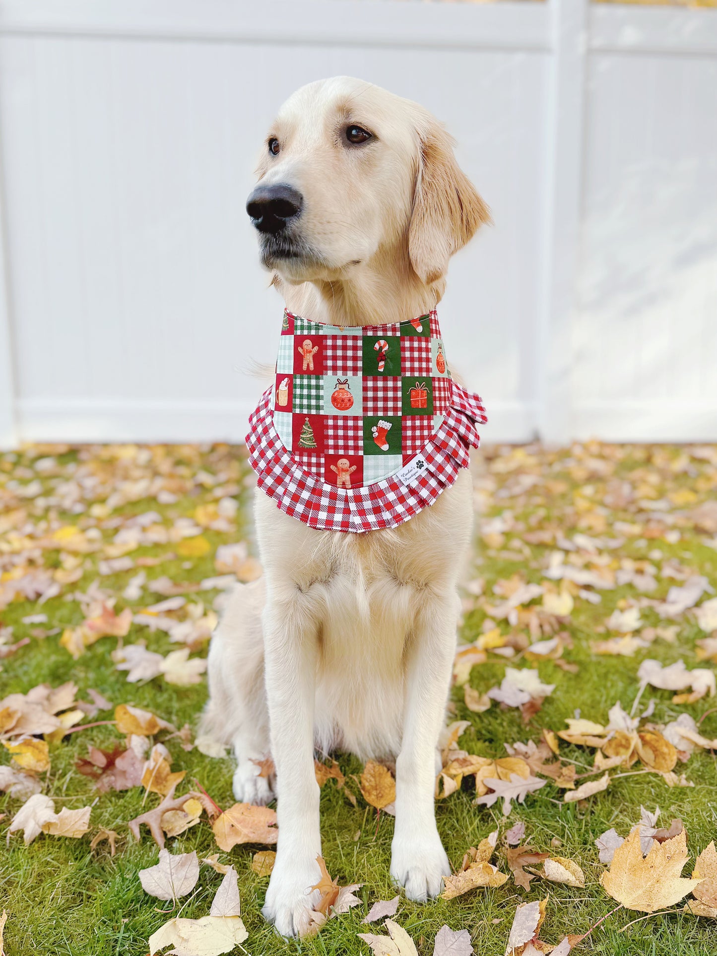
[[[317,636],[315,742],[359,757],[401,748],[404,655],[426,599],[455,591],[471,530],[470,477],[393,531],[316,532],[256,498],[269,599]],[[271,595],[271,597],[270,597]]]

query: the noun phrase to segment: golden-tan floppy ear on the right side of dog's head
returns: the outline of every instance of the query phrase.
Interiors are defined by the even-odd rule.
[[[490,222],[483,202],[456,163],[453,141],[432,120],[421,136],[408,255],[414,272],[427,284],[440,279],[448,259],[463,249],[476,229]]]

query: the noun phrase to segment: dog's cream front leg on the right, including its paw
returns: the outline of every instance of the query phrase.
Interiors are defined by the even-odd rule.
[[[406,662],[401,752],[396,761],[396,829],[391,876],[411,900],[441,892],[450,873],[436,827],[436,747],[455,655],[458,597],[428,597],[416,622]]]

